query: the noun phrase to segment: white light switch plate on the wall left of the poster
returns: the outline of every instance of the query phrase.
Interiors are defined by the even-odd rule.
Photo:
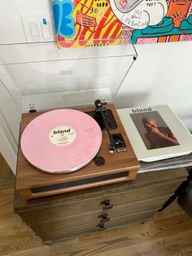
[[[52,13],[21,13],[20,16],[27,42],[55,41]]]

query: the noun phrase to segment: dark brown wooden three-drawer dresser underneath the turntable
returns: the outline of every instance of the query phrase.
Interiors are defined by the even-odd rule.
[[[151,219],[186,176],[184,168],[144,172],[135,180],[28,201],[15,192],[14,210],[51,244]]]

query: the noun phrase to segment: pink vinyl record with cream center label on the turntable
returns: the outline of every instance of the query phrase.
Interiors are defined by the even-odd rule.
[[[102,131],[94,118],[73,109],[41,114],[28,123],[21,150],[37,169],[60,174],[78,170],[98,153]]]

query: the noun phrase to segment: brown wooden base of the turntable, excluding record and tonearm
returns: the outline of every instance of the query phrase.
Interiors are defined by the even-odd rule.
[[[88,112],[94,111],[94,106],[76,109]],[[107,104],[107,109],[111,109],[117,124],[117,128],[111,130],[111,135],[119,133],[123,135],[128,150],[111,154],[108,149],[109,138],[107,131],[104,130],[103,142],[98,152],[98,156],[105,159],[104,166],[96,166],[94,161],[91,161],[81,170],[76,170],[72,173],[48,174],[31,166],[25,159],[19,145],[15,189],[20,192],[20,196],[26,200],[135,179],[139,168],[137,157],[124,131],[116,108],[113,104]],[[28,123],[42,113],[45,112],[22,114],[20,136]],[[41,141],[39,142],[39,147],[41,147]]]

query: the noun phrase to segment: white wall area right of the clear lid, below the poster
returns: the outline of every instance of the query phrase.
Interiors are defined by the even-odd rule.
[[[136,46],[138,58],[116,98],[118,108],[168,104],[192,130],[192,42]]]

